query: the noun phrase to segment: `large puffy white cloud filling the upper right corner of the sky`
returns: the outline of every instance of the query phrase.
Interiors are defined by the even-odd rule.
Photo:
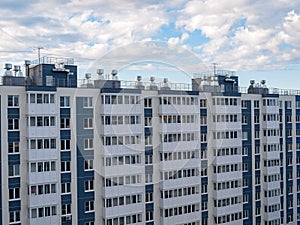
[[[288,0],[193,0],[180,11],[176,26],[210,38],[194,48],[204,62],[227,68],[284,67],[299,57],[300,16],[291,10],[299,7]]]

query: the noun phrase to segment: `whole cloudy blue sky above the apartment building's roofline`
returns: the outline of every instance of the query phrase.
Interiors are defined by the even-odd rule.
[[[216,63],[240,86],[300,89],[300,1],[1,0],[0,63],[37,59],[39,47],[74,58],[82,78],[104,68],[187,83]]]

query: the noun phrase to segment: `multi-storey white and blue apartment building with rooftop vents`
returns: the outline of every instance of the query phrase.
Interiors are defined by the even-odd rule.
[[[5,65],[0,224],[300,224],[300,92],[97,73]]]

